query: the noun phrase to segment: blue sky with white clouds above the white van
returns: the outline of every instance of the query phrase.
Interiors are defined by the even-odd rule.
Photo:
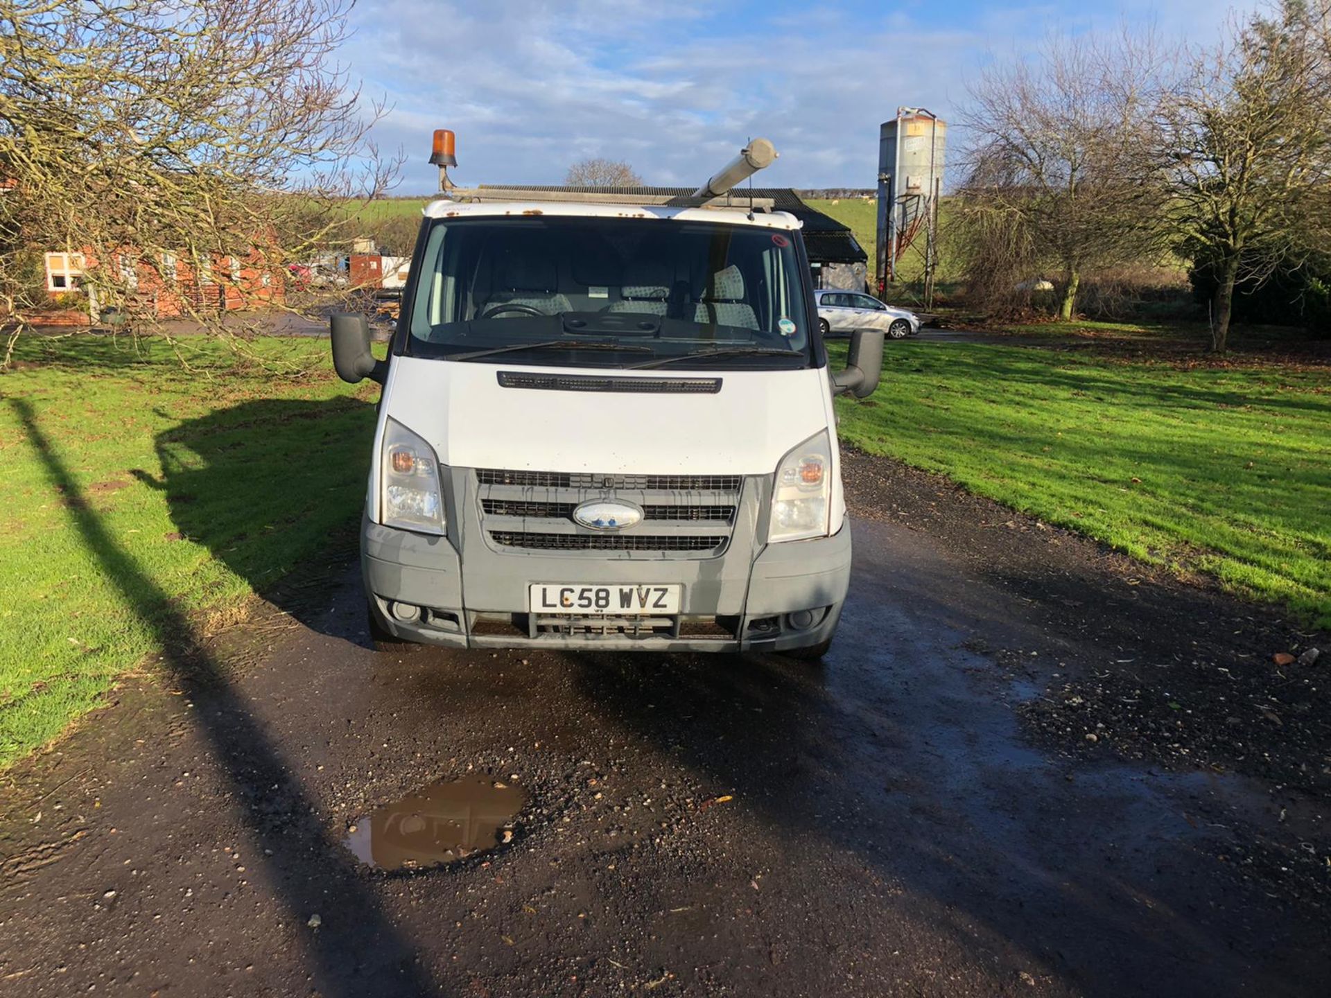
[[[1050,31],[1150,25],[1209,44],[1231,7],[361,0],[339,59],[366,97],[387,105],[373,134],[381,150],[407,156],[398,194],[434,190],[435,128],[458,136],[462,186],[559,184],[591,156],[624,160],[648,184],[696,185],[765,136],[780,158],[763,185],[870,188],[878,124],[898,105],[946,120],[986,63],[1021,57]]]

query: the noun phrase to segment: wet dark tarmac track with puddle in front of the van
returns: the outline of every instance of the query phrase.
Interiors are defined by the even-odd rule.
[[[816,667],[377,653],[346,564],[15,773],[0,993],[1328,993],[1322,897],[1238,858],[1322,850],[1322,801],[1032,744],[1131,649],[855,543]]]

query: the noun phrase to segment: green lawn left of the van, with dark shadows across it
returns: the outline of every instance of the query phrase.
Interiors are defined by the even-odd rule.
[[[373,393],[326,341],[256,343],[301,377],[184,342],[193,370],[28,337],[0,375],[0,768],[158,651],[168,613],[225,621],[359,511]]]

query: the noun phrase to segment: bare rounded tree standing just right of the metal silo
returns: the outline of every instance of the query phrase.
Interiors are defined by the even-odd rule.
[[[1150,35],[1059,35],[969,86],[958,208],[964,244],[981,248],[969,267],[977,283],[1047,267],[1067,319],[1089,270],[1159,253],[1165,185],[1151,112],[1163,65]]]

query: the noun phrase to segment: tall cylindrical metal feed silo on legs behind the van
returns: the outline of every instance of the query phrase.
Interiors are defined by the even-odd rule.
[[[933,297],[938,197],[948,124],[924,108],[897,108],[878,129],[878,293],[916,245],[925,257],[925,298]]]

